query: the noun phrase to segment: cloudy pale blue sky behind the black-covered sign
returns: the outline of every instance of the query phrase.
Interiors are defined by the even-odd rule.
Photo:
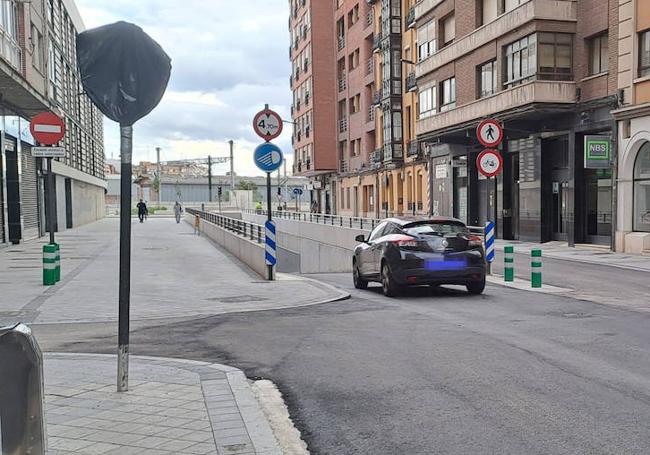
[[[227,156],[235,172],[260,174],[252,118],[268,103],[290,117],[287,0],[77,0],[87,28],[118,20],[141,26],[172,59],[161,104],[134,126],[134,161]],[[291,125],[275,142],[291,172]],[[118,158],[119,129],[105,122],[106,156]],[[218,173],[229,165],[215,167]]]

